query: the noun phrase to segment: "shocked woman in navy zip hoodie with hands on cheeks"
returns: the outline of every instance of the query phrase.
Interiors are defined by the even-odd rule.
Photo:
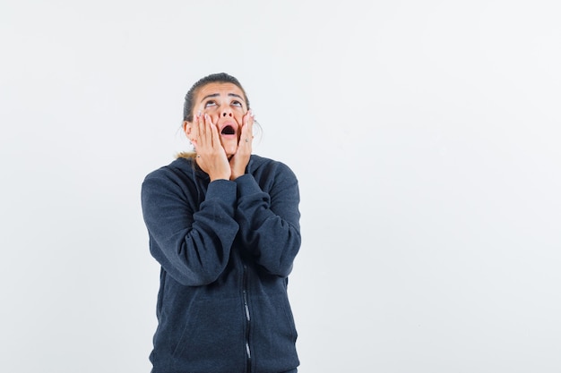
[[[194,152],[142,183],[161,265],[152,373],[297,371],[287,284],[300,248],[298,181],[251,154],[253,125],[236,78],[204,77],[184,106]]]

